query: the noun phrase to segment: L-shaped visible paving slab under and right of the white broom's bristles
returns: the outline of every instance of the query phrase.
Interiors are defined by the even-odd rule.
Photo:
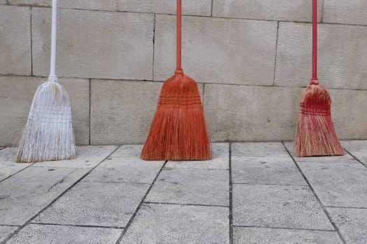
[[[117,146],[77,146],[73,160],[36,162],[32,167],[92,168],[102,162]]]

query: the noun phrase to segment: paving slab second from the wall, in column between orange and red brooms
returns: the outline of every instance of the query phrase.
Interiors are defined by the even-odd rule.
[[[251,185],[307,185],[292,158],[231,158],[232,183]]]

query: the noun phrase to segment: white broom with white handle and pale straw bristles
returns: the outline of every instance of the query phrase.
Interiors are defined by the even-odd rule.
[[[27,125],[15,156],[16,162],[75,158],[75,139],[69,95],[55,75],[57,0],[52,0],[51,64],[48,82],[34,95]]]

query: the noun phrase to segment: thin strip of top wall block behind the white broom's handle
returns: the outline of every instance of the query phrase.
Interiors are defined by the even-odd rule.
[[[26,6],[51,6],[51,0],[8,0],[11,5],[26,5]],[[92,9],[92,10],[116,10],[115,0],[63,0],[58,1],[59,8],[75,8],[75,9]]]

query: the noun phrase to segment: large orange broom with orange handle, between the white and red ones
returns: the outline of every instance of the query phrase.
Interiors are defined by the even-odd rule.
[[[181,68],[181,0],[177,1],[177,68],[164,82],[141,158],[209,160],[210,139],[194,79]]]

